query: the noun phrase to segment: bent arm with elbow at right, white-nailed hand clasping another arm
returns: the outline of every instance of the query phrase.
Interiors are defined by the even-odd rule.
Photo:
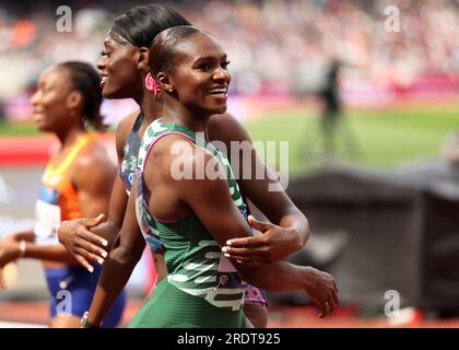
[[[244,127],[231,115],[214,116],[209,122],[209,136],[211,140],[221,140],[229,152],[231,142],[248,142],[251,140]],[[236,172],[242,192],[267,215],[273,223],[261,223],[257,220],[249,220],[249,224],[260,231],[262,235],[248,238],[231,240],[226,248],[229,258],[240,260],[248,266],[256,266],[272,261],[280,261],[290,254],[302,248],[309,237],[309,223],[305,215],[295,207],[285,191],[270,191],[269,186],[276,185],[273,172],[257,155],[252,148],[250,160],[244,159],[244,152],[231,154],[229,160],[238,156],[238,168]],[[250,166],[252,176],[245,178],[245,166]],[[261,179],[255,174],[263,170]],[[247,170],[246,170],[247,171]]]

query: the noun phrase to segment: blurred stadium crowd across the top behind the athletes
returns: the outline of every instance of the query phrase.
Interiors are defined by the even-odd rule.
[[[70,1],[72,31],[58,32],[59,1],[2,0],[0,103],[21,98],[54,62],[95,62],[113,19],[145,2]],[[459,74],[459,0],[157,2],[178,10],[224,44],[235,94],[316,91],[336,59],[349,81],[409,84],[420,77]],[[389,5],[400,12],[400,32],[385,26]]]

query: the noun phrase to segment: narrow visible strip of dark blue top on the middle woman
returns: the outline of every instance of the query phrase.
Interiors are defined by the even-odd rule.
[[[139,137],[140,126],[142,125],[143,115],[142,113],[136,119],[131,132],[129,133],[128,140],[125,144],[125,156],[122,158],[121,168],[119,170],[119,176],[121,176],[122,184],[125,185],[126,192],[129,195],[133,180],[134,172],[137,166],[137,156],[139,154],[141,139]]]

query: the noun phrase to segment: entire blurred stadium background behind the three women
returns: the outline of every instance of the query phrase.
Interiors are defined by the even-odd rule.
[[[39,73],[69,59],[95,65],[113,20],[141,3],[68,1],[71,32],[59,32],[61,1],[1,1],[0,237],[33,226],[55,142],[31,119]],[[459,1],[157,3],[223,44],[229,112],[252,140],[289,141],[287,170],[279,154],[267,161],[289,172],[286,190],[311,221],[313,238],[292,260],[338,281],[334,316],[318,320],[303,295],[276,293],[270,326],[459,326]],[[105,101],[103,114],[115,129],[133,108]],[[113,140],[111,132],[111,152]],[[130,281],[126,320],[140,305],[149,264]],[[0,320],[45,324],[39,264],[20,261],[7,272]],[[393,301],[401,312],[387,317]]]

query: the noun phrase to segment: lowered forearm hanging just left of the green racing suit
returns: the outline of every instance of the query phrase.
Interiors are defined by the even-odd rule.
[[[125,288],[139,261],[141,254],[132,254],[122,246],[111,250],[105,262],[93,302],[91,303],[87,320],[93,325],[99,325],[116,298]]]

